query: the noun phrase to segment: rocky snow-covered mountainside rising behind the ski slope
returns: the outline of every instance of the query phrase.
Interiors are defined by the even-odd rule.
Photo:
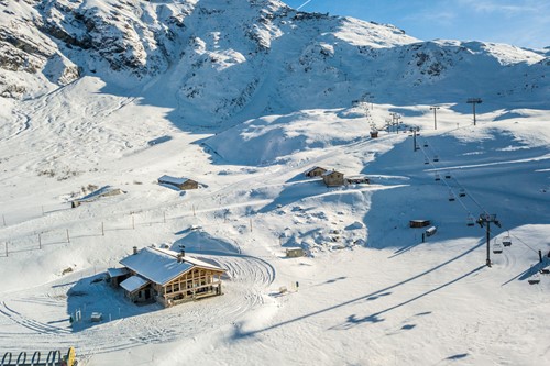
[[[365,92],[381,103],[515,107],[550,92],[543,51],[422,42],[278,0],[2,0],[0,11],[3,98],[96,76],[174,109],[176,125],[345,107]]]

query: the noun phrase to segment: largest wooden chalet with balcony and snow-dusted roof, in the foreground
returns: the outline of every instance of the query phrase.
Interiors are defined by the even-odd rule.
[[[157,301],[172,307],[222,293],[221,276],[226,270],[190,257],[185,251],[134,247],[134,253],[120,264],[123,268],[109,273],[124,277],[117,282],[133,302]]]

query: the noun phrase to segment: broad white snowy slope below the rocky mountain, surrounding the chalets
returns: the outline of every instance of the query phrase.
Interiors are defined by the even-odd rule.
[[[470,106],[450,103],[435,131],[429,106],[373,104],[366,118],[350,102],[213,134],[120,95],[85,77],[2,100],[0,350],[75,346],[85,365],[550,363],[550,276],[528,284],[550,263],[538,257],[550,251],[548,110],[484,103],[474,126]],[[400,131],[371,138],[389,112]],[[302,176],[315,165],[371,184],[327,189]],[[158,186],[165,174],[201,188]],[[70,209],[89,185],[125,193]],[[485,231],[466,226],[483,212],[502,222],[492,244],[513,241],[491,268]],[[421,243],[413,219],[437,234]],[[96,280],[161,243],[227,268],[224,296],[138,307]],[[285,258],[289,246],[308,256]]]

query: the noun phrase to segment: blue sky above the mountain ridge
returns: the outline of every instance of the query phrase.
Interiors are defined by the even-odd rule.
[[[550,0],[282,0],[302,11],[391,23],[429,41],[550,46]]]

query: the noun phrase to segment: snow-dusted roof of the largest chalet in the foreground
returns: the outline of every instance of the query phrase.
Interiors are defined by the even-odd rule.
[[[158,285],[166,285],[195,266],[224,271],[223,268],[189,256],[184,256],[178,262],[178,254],[170,249],[144,247],[120,260],[120,264]]]

